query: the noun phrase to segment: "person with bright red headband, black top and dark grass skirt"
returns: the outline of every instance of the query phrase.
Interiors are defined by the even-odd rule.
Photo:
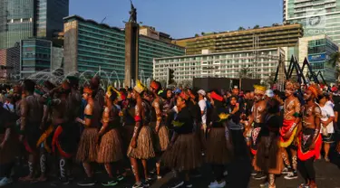
[[[228,131],[229,114],[228,109],[223,106],[224,99],[215,91],[211,92],[210,98],[213,108],[210,115],[206,160],[214,172],[214,180],[209,184],[209,188],[219,188],[226,185],[223,177],[224,166],[231,161],[233,151]]]

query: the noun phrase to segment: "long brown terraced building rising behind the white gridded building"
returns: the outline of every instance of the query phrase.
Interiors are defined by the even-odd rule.
[[[210,52],[237,52],[295,46],[303,36],[301,24],[285,24],[243,31],[205,33],[202,36],[174,40],[186,47],[186,54]]]

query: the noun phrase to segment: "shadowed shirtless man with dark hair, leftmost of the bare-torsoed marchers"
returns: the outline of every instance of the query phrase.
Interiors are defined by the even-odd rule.
[[[44,115],[43,105],[39,97],[34,95],[35,82],[24,80],[23,90],[25,98],[20,104],[20,134],[19,139],[24,143],[24,148],[29,153],[28,169],[29,174],[20,178],[20,181],[34,181],[36,164],[39,159],[39,150],[36,143],[40,137],[40,125]]]

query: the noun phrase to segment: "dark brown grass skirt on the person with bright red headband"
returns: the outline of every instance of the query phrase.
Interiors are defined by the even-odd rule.
[[[207,141],[207,163],[228,164],[232,158],[232,151],[228,149],[224,127],[213,127]]]

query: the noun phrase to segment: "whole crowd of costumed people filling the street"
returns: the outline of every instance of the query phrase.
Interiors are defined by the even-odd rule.
[[[190,176],[204,163],[213,172],[209,188],[219,188],[226,186],[226,165],[243,152],[252,160],[253,178],[267,187],[276,187],[277,174],[291,180],[298,171],[305,179],[298,187],[316,188],[314,162],[320,154],[329,162],[330,149],[340,151],[336,87],[287,80],[284,91],[256,85],[224,92],[163,89],[157,80],[149,88],[140,81],[126,89],[102,89],[100,83],[93,77],[80,87],[69,76],[60,84],[24,80],[3,91],[0,187],[13,183],[19,161],[27,163],[28,174],[18,181],[45,182],[52,164],[58,169],[54,186],[70,183],[76,164],[83,164],[86,177],[80,186],[96,183],[93,164],[108,174],[103,186],[119,184],[131,167],[133,188],[151,186],[151,174],[161,179],[162,166],[175,174],[170,187],[192,187]],[[245,151],[239,151],[238,136]]]

